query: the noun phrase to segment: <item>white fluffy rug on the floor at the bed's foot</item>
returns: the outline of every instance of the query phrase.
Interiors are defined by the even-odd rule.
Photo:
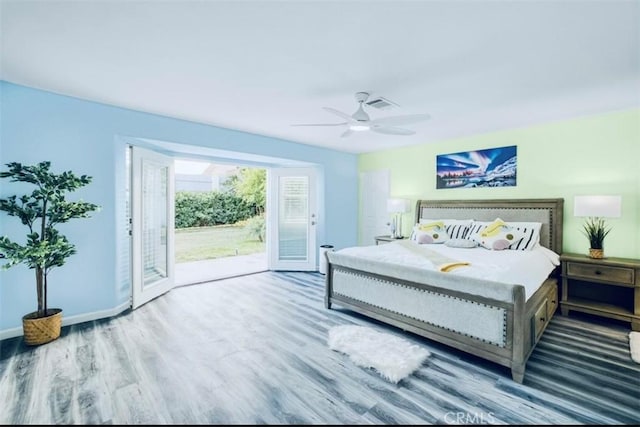
[[[348,355],[358,366],[375,369],[392,383],[417,370],[430,355],[407,340],[365,326],[335,326],[329,329],[327,343],[330,349]]]

